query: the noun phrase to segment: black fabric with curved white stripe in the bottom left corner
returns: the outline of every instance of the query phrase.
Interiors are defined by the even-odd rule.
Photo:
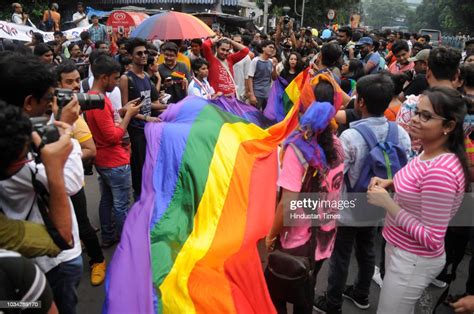
[[[41,302],[41,308],[21,311],[2,308],[0,312],[47,313],[53,303],[53,292],[41,270],[27,258],[0,249],[0,300]]]

